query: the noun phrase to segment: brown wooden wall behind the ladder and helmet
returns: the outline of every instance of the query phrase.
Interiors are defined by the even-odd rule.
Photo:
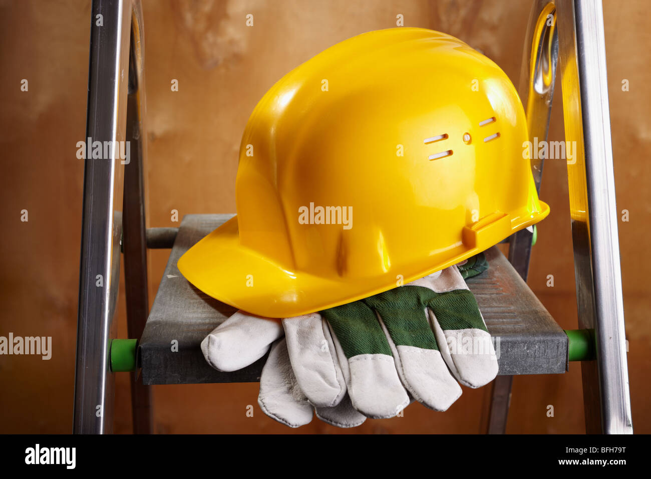
[[[234,212],[240,136],[257,100],[284,73],[358,33],[395,26],[445,31],[483,51],[518,84],[529,1],[144,0],[148,113],[148,223],[175,225],[170,211]],[[648,373],[648,254],[651,179],[651,29],[646,0],[604,5],[613,156],[620,222],[633,425],[651,432]],[[255,27],[245,27],[252,13]],[[0,1],[0,336],[52,336],[53,356],[0,356],[0,433],[72,429],[74,355],[90,1]],[[20,91],[21,79],[29,91]],[[170,81],[179,81],[171,92]],[[630,91],[621,89],[622,79]],[[550,139],[563,139],[560,92]],[[529,285],[561,327],[577,327],[568,186],[563,162],[546,164]],[[29,210],[29,222],[20,210]],[[150,254],[153,300],[167,252]],[[546,287],[547,274],[555,286]],[[119,336],[126,337],[124,291]],[[314,420],[292,431],[260,411],[256,384],[154,387],[159,433],[327,432],[475,433],[483,431],[490,388],[464,388],[446,413],[414,404],[404,418],[369,420],[350,431]],[[129,432],[129,377],[117,374],[115,430]],[[245,416],[254,405],[253,418]],[[554,405],[555,416],[546,416]],[[581,433],[581,373],[516,377],[510,433]]]

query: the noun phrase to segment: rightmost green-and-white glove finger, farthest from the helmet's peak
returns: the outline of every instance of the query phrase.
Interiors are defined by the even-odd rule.
[[[477,300],[456,267],[437,280],[439,295],[428,302],[430,323],[450,372],[465,386],[478,388],[497,375],[497,356]]]

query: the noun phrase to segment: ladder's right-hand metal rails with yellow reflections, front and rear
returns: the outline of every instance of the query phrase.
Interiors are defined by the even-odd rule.
[[[601,0],[533,2],[519,87],[532,143],[547,139],[559,56],[565,140],[577,146],[568,182],[579,328],[596,343],[596,361],[581,362],[586,432],[632,433]],[[531,160],[538,192],[543,164]],[[524,280],[530,255],[531,233],[519,231],[508,259]],[[505,432],[511,384],[495,380],[489,433]]]

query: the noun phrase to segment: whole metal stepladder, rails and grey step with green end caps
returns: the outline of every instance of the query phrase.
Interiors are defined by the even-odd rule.
[[[130,141],[132,154],[128,162],[115,154],[85,160],[74,432],[112,431],[113,373],[132,371],[133,429],[148,433],[149,385],[259,381],[264,358],[223,373],[202,356],[201,340],[234,308],[188,283],[176,261],[232,215],[189,214],[179,228],[145,227],[141,3],[93,0],[91,10],[86,136]],[[579,329],[563,331],[525,283],[533,231],[508,239],[508,261],[495,246],[486,252],[490,269],[468,285],[499,347],[487,432],[505,431],[513,375],[563,373],[581,360],[587,433],[632,433],[600,0],[533,2],[519,88],[532,141],[547,139],[557,65],[566,141],[577,145],[568,181]],[[543,164],[532,160],[538,189]],[[147,248],[171,248],[151,311]],[[120,252],[128,335],[138,340],[115,337]]]

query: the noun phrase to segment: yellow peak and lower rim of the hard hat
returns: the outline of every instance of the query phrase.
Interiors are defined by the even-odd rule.
[[[408,283],[459,263],[536,224],[549,214],[540,210],[521,214],[497,214],[462,231],[462,244],[445,252],[445,259],[429,257],[401,272]],[[326,310],[392,289],[400,283],[396,271],[360,278],[324,278],[301,270],[289,270],[240,243],[238,217],[234,216],[189,248],[177,263],[186,279],[208,296],[255,315],[294,317]]]

